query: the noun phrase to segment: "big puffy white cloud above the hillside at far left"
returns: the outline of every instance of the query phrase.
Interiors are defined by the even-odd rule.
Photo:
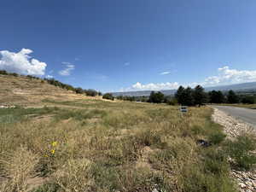
[[[30,56],[32,52],[32,49],[24,48],[17,53],[9,50],[0,51],[0,70],[26,75],[44,75],[47,64],[33,59]]]

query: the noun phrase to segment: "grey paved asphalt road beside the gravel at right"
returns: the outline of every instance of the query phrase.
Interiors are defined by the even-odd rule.
[[[229,113],[231,116],[241,119],[244,122],[256,127],[256,109],[250,108],[236,108],[230,106],[212,106],[213,108],[218,108],[225,113]]]

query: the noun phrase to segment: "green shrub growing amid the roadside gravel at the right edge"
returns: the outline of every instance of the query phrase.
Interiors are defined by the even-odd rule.
[[[255,148],[256,141],[252,137],[240,136],[235,141],[229,141],[227,152],[234,160],[232,166],[238,169],[250,170],[256,164],[255,154],[250,153]]]

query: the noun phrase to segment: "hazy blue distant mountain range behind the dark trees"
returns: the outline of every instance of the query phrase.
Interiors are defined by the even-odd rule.
[[[235,90],[236,92],[250,92],[256,91],[256,82],[244,83],[244,84],[229,84],[213,87],[205,87],[206,91],[211,90]],[[113,92],[113,96],[149,96],[152,90],[137,90],[137,91],[127,91],[127,92]],[[160,90],[166,96],[174,95],[177,90]]]

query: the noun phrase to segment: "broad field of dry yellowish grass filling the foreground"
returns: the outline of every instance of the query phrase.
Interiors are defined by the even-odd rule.
[[[229,166],[217,155],[219,143],[196,143],[222,131],[210,108],[189,108],[182,117],[177,107],[161,104],[79,99],[44,105],[58,108],[12,109],[15,120],[0,125],[3,189],[6,183],[12,191],[32,189],[26,180],[36,173],[47,177],[37,192],[235,191]],[[3,110],[0,116],[9,115]]]

